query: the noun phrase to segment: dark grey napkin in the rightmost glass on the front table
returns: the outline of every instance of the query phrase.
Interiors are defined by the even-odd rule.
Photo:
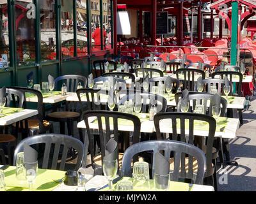
[[[170,173],[170,163],[162,154],[157,152],[154,156],[155,172],[157,175],[168,175]],[[161,182],[161,179],[160,179]],[[164,180],[163,180],[164,182]]]

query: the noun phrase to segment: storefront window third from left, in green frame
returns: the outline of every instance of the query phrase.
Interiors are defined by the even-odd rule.
[[[41,59],[56,59],[56,13],[54,0],[40,0]]]

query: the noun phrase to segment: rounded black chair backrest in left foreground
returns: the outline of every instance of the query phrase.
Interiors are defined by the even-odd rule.
[[[43,169],[67,170],[65,169],[68,159],[67,154],[68,150],[72,148],[77,152],[76,168],[74,170],[78,170],[82,164],[83,157],[86,155],[83,143],[76,138],[58,134],[36,135],[22,140],[17,145],[13,157],[13,166],[16,165],[17,154],[24,151],[24,143],[27,143],[29,146],[45,145],[43,163],[42,166],[39,166]],[[59,159],[60,155],[62,155],[61,161]]]

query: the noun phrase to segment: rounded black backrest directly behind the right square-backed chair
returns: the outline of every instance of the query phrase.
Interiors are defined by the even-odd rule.
[[[181,92],[178,92],[175,94],[175,101],[177,104],[177,112],[181,112],[180,110],[180,97]],[[207,93],[200,93],[200,92],[189,92],[189,112],[192,112],[195,110],[196,105],[204,105],[204,114],[212,116],[212,99],[214,95],[207,94]],[[221,117],[225,117],[225,113],[227,112],[227,100],[225,98],[220,99],[221,103]]]

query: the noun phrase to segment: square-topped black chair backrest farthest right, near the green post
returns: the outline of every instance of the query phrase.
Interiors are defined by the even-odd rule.
[[[218,71],[218,72],[212,73],[212,78],[216,78],[216,76],[220,77],[221,79],[224,79],[225,76],[227,76],[227,78],[230,82],[234,82],[234,77],[238,77],[239,82],[235,82],[236,83],[236,94],[238,96],[242,96],[242,91],[241,91],[242,82],[243,82],[243,74],[242,73],[240,73],[238,71]]]

